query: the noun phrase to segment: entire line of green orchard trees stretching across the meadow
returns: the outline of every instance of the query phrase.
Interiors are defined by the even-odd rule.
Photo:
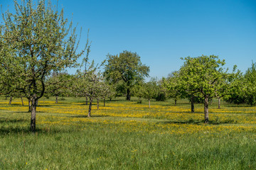
[[[15,13],[2,13],[0,25],[0,95],[28,99],[31,111],[31,131],[36,130],[36,107],[43,96],[85,97],[91,115],[92,101],[137,96],[150,101],[188,98],[191,111],[195,101],[203,101],[205,123],[208,123],[208,103],[223,98],[232,103],[256,103],[255,63],[245,74],[229,72],[225,61],[217,56],[186,57],[181,68],[169,77],[148,82],[149,67],[142,64],[136,52],[124,50],[119,55],[107,55],[102,64],[89,61],[90,42],[79,47],[80,35],[63,10],[50,1],[14,1]],[[78,63],[79,57],[83,62]],[[78,69],[76,74],[65,72]],[[103,70],[103,71],[101,71]],[[105,105],[105,104],[104,104]]]

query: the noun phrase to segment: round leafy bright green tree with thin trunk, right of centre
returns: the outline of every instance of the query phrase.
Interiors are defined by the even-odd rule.
[[[201,57],[186,57],[181,67],[181,79],[186,84],[186,90],[203,95],[205,123],[209,122],[208,101],[215,96],[215,89],[221,83],[225,60],[217,56],[202,55]],[[184,86],[183,86],[184,87]]]

